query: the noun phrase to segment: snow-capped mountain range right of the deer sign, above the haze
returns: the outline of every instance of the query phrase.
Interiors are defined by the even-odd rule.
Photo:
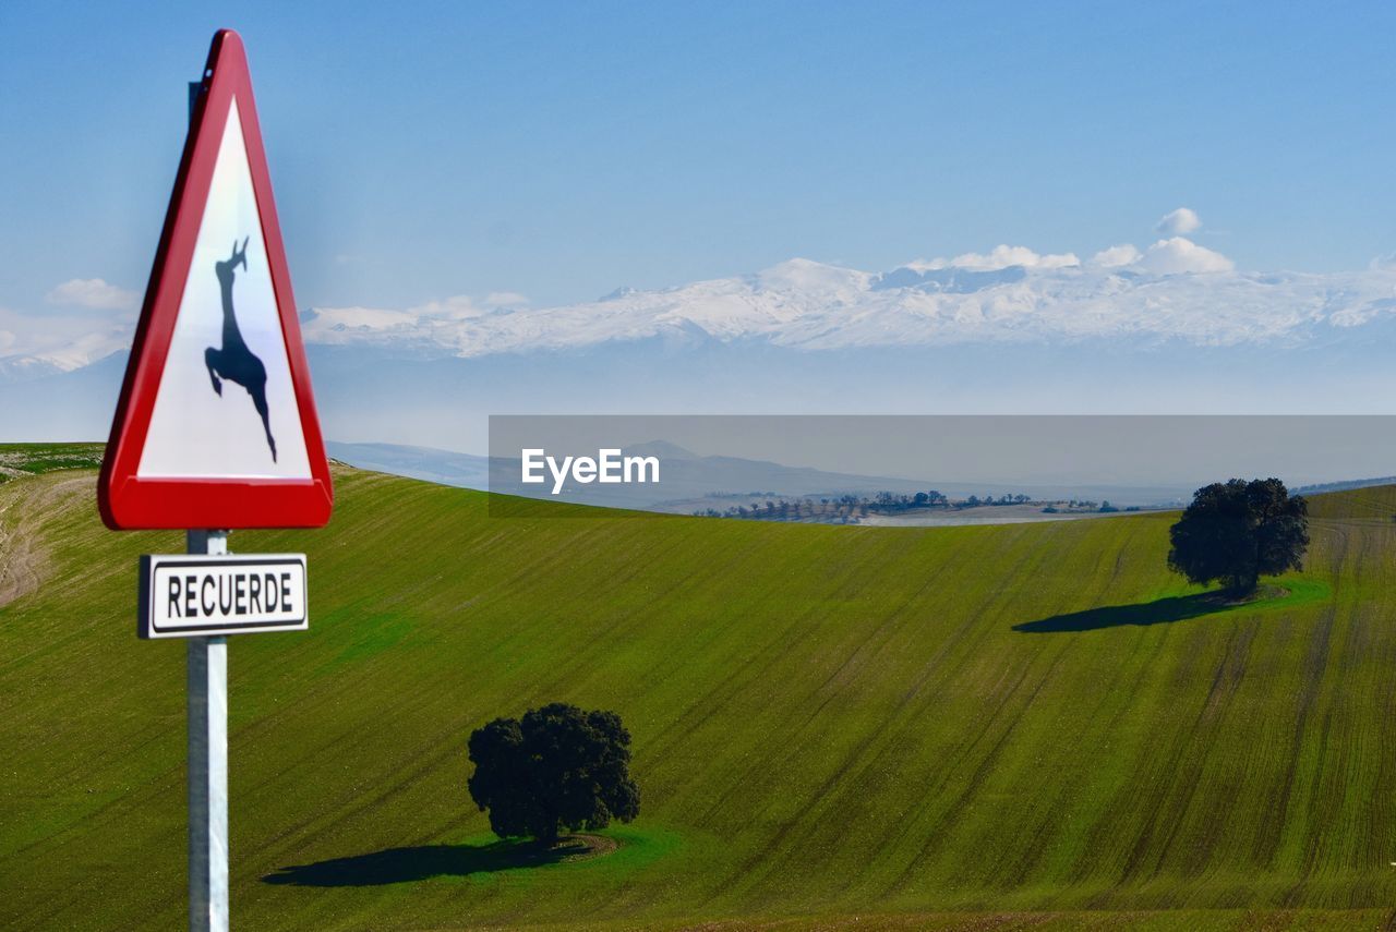
[[[1081,340],[1231,346],[1304,342],[1389,315],[1396,269],[1237,272],[1182,237],[1090,261],[1000,247],[863,272],[790,260],[754,275],[561,307],[468,299],[385,311],[317,308],[307,339],[475,357],[705,336],[800,350]]]

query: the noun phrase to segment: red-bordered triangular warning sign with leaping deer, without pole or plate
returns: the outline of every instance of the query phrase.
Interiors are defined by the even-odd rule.
[[[318,527],[334,491],[247,56],[214,36],[98,484],[134,527]]]

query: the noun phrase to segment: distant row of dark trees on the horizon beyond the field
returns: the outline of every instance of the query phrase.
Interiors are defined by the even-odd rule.
[[[754,493],[754,495],[759,497],[761,493]],[[751,520],[856,523],[859,519],[868,518],[870,515],[905,515],[907,512],[928,509],[962,511],[965,508],[1001,505],[1043,505],[1043,512],[1046,513],[1120,511],[1108,501],[1068,499],[1046,502],[1034,501],[1030,495],[1023,494],[970,495],[952,501],[948,495],[933,488],[912,495],[877,493],[875,495],[801,497],[787,499],[772,494],[765,501],[751,502],[750,505],[730,505],[722,509],[699,508],[694,515],[698,518],[745,518]]]

